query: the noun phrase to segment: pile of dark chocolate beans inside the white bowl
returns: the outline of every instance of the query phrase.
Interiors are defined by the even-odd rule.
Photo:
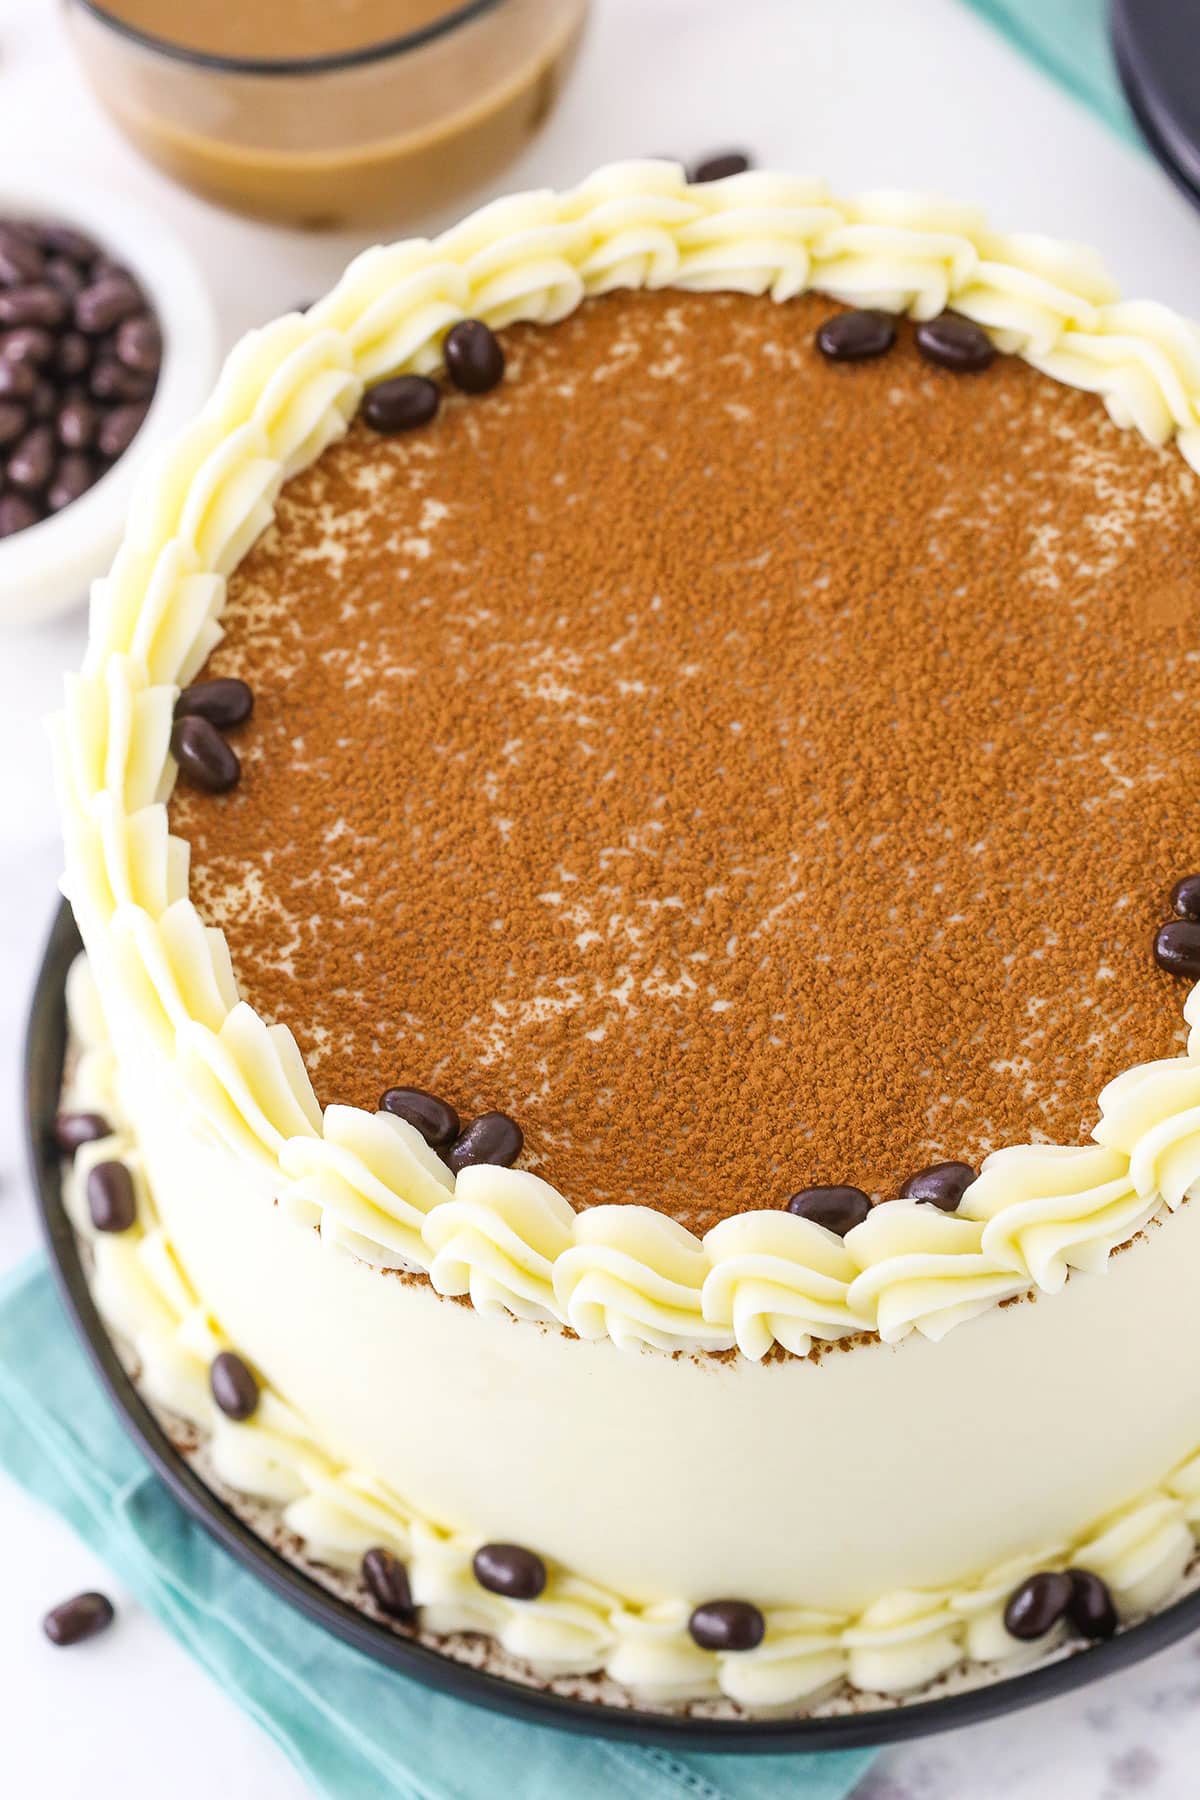
[[[162,333],[72,225],[0,220],[0,538],[86,493],[142,427]]]

